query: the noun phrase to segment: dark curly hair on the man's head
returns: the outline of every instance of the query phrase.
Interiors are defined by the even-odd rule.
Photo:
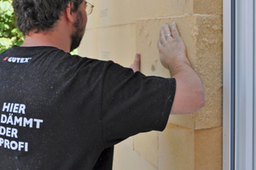
[[[16,16],[16,26],[24,34],[30,31],[47,31],[53,28],[60,19],[61,11],[67,8],[67,3],[73,2],[73,12],[76,12],[84,0],[14,0],[13,8]]]

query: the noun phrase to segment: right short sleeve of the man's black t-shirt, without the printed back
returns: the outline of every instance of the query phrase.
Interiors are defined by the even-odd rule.
[[[175,90],[174,78],[146,77],[139,71],[109,65],[102,87],[105,147],[137,133],[164,130]]]

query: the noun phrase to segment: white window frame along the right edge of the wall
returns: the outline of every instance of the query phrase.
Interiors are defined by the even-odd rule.
[[[256,170],[255,10],[254,0],[224,0],[224,170]]]

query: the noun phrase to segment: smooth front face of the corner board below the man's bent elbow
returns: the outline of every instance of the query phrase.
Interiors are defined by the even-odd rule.
[[[160,170],[194,169],[194,130],[169,123],[159,133]]]

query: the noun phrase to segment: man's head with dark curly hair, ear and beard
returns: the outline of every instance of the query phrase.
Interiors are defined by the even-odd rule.
[[[34,33],[43,33],[46,36],[48,31],[60,34],[60,30],[58,31],[57,29],[55,31],[55,26],[57,26],[63,31],[61,36],[70,40],[67,39],[67,42],[70,42],[70,51],[79,47],[84,36],[87,22],[87,15],[84,9],[86,6],[84,0],[13,1],[17,18],[16,25],[24,35],[30,37]],[[68,28],[60,27],[60,22],[62,23],[61,26],[67,26]],[[69,24],[63,25],[63,22]]]

